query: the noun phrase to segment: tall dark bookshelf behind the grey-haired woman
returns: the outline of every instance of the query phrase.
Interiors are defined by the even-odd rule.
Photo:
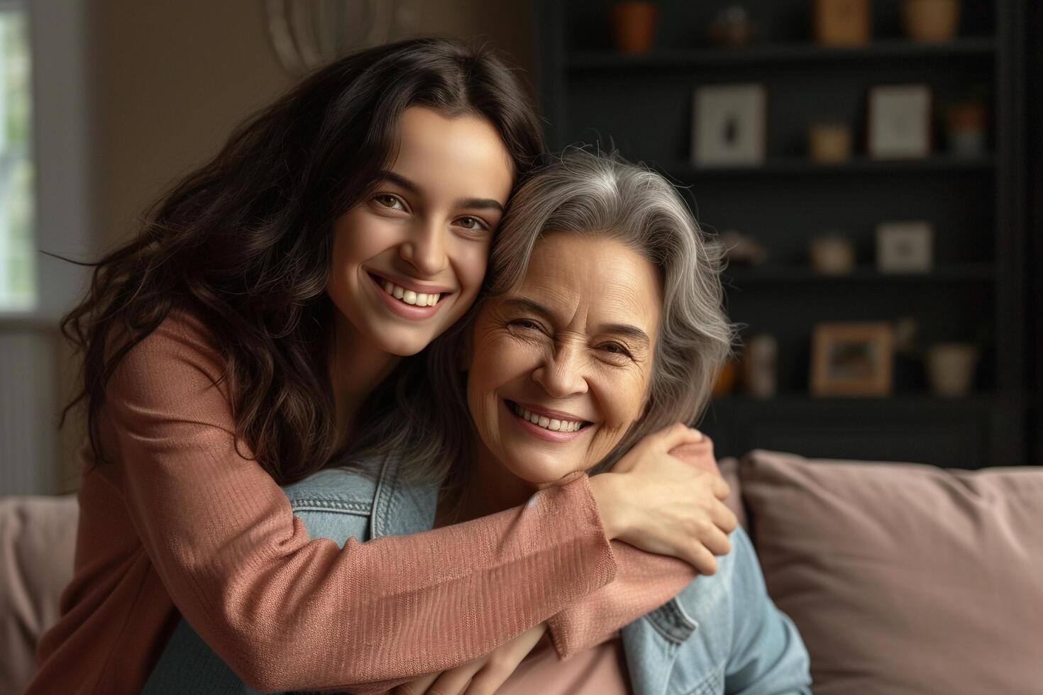
[[[535,2],[538,92],[551,146],[599,143],[666,174],[708,231],[738,229],[770,248],[760,266],[723,273],[729,316],[744,336],[778,340],[778,394],[714,399],[700,427],[722,455],[752,448],[809,456],[916,461],[978,468],[1024,463],[1029,404],[1023,336],[1025,267],[1023,0],[962,3],[960,34],[944,44],[902,38],[900,0],[873,2],[873,40],[824,48],[810,39],[807,0],[749,0],[760,26],[752,46],[707,45],[723,0],[659,3],[656,46],[625,55],[611,46],[607,0]],[[768,92],[763,164],[701,168],[689,160],[693,95],[704,84],[759,82]],[[930,156],[878,160],[865,153],[868,89],[927,83],[936,98]],[[984,89],[988,153],[947,152],[941,110]],[[812,120],[852,127],[854,157],[818,164],[805,155]],[[935,227],[928,273],[880,273],[879,222],[925,219]],[[843,229],[857,265],[821,275],[807,243]],[[893,395],[815,398],[810,337],[820,322],[913,318],[922,345],[979,345],[972,394],[931,395],[917,356],[898,356]]]

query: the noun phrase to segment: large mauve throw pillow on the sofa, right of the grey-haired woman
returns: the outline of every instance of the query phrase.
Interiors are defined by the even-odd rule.
[[[816,695],[1043,693],[1043,468],[739,463]]]

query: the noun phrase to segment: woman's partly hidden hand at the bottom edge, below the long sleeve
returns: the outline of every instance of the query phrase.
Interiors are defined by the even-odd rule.
[[[539,623],[485,656],[440,673],[429,673],[395,688],[393,695],[492,695],[539,643],[547,623]]]

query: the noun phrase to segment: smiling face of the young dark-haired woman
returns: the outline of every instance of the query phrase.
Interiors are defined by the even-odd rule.
[[[377,188],[337,219],[326,292],[383,352],[419,352],[471,305],[514,167],[484,118],[423,106],[402,115]]]

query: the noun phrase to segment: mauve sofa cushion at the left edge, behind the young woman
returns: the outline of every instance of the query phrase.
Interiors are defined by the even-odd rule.
[[[75,495],[0,497],[0,693],[20,693],[37,670],[37,641],[58,619],[72,578]]]

